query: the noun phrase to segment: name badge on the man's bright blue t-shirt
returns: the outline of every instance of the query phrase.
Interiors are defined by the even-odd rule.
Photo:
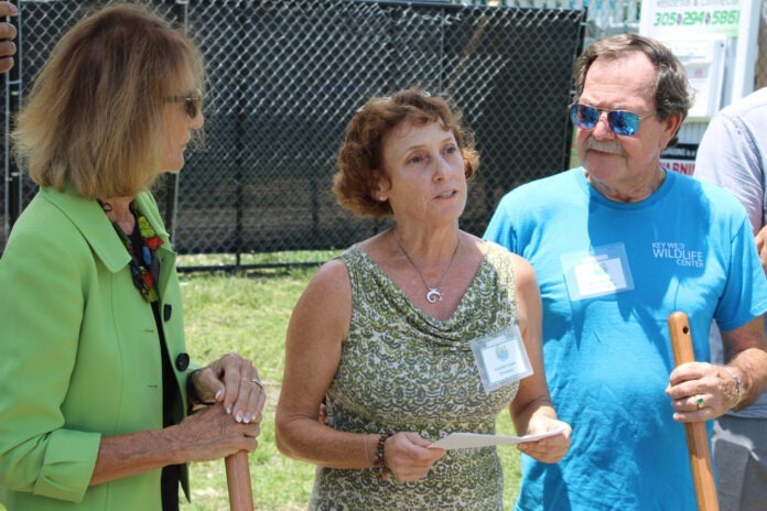
[[[568,294],[573,302],[634,289],[623,243],[566,253],[561,260]]]

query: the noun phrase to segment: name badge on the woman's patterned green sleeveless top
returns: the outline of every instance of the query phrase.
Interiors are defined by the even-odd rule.
[[[532,374],[530,359],[517,325],[474,339],[471,346],[487,393]]]

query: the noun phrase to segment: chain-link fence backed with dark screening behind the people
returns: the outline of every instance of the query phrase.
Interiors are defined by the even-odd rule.
[[[155,191],[180,253],[339,249],[388,227],[342,209],[332,176],[357,108],[410,85],[453,99],[475,131],[483,161],[464,229],[480,235],[503,194],[568,164],[582,10],[339,0],[152,6],[187,25],[209,80],[204,148]],[[23,96],[86,8],[68,0],[20,7]],[[23,207],[35,186],[15,178]],[[12,182],[3,197],[14,193]],[[9,203],[2,243],[15,214]]]

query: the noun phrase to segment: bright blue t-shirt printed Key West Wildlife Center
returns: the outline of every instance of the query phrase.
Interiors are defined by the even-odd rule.
[[[536,270],[543,355],[559,416],[573,427],[559,464],[522,456],[518,510],[695,510],[684,426],[666,395],[667,318],[688,315],[696,360],[709,326],[767,311],[767,282],[743,207],[667,172],[639,203],[616,203],[583,168],[520,186],[485,232]]]

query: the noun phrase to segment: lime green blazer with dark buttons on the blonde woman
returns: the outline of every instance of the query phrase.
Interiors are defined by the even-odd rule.
[[[160,311],[179,382],[177,423],[187,368],[175,253],[151,194],[136,202],[164,241]],[[42,188],[13,227],[0,259],[0,502],[8,511],[161,510],[160,470],[88,487],[101,435],[163,426],[160,337],[129,260],[96,200],[72,191]],[[185,466],[183,474],[188,496]]]

